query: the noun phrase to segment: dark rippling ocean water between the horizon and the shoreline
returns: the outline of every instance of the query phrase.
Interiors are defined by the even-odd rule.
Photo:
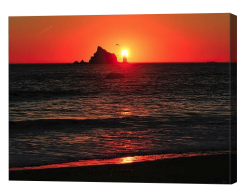
[[[236,66],[9,65],[9,167],[235,149]]]

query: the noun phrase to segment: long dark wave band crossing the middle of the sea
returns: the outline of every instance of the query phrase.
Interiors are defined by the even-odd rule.
[[[119,118],[46,118],[26,121],[9,121],[10,132],[29,130],[88,130],[93,128],[133,128],[133,129],[202,129],[227,131],[228,117],[224,115],[168,114],[165,116],[128,116]],[[212,129],[211,129],[212,128]]]

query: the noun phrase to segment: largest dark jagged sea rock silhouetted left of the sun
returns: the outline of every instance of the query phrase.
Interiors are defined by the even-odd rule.
[[[100,46],[97,47],[97,51],[89,60],[90,64],[117,64],[117,57],[113,53],[107,52]]]

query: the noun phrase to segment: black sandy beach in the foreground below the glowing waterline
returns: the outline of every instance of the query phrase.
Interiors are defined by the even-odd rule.
[[[231,159],[231,184],[235,184],[237,154]],[[228,154],[119,165],[8,171],[8,174],[10,182],[230,184]]]

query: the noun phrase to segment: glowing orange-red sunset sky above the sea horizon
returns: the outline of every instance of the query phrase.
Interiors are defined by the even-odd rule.
[[[123,49],[129,62],[236,61],[236,51],[230,58],[230,13],[10,15],[8,20],[9,63],[88,62],[97,46],[120,62]]]

